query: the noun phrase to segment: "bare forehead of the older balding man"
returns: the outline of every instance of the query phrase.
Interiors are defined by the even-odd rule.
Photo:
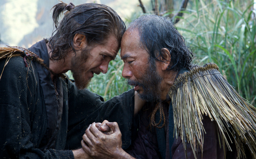
[[[121,57],[125,54],[128,56],[149,56],[141,44],[138,29],[125,31],[121,41]]]

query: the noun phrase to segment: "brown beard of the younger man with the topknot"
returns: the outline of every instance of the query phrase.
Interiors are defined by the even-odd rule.
[[[86,72],[86,70],[88,70],[88,67],[89,67],[86,65],[85,65],[86,67],[84,67],[84,63],[86,63],[88,61],[88,56],[89,56],[89,51],[85,50],[85,51],[81,52],[80,56],[73,57],[72,62],[71,62],[72,70],[70,70],[70,71],[75,80],[75,85],[78,89],[87,88],[91,81],[91,78],[86,77],[86,75],[83,74]],[[95,73],[97,75],[100,74],[100,71],[96,68],[93,68],[89,71],[92,71],[93,73]]]

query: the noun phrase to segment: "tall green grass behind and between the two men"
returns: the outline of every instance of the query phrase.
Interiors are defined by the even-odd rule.
[[[162,10],[162,1],[158,3],[158,14],[162,16],[173,17],[179,12],[169,7]],[[172,3],[175,4],[175,1]],[[143,14],[156,13],[154,3],[145,3],[145,8],[146,13],[136,12],[134,16],[126,18],[126,23]],[[175,17],[180,19],[176,27],[193,47],[193,62],[200,65],[208,62],[217,64],[222,75],[236,91],[255,106],[256,22],[253,2],[191,0],[186,10],[180,13],[183,13],[183,16]],[[105,100],[131,89],[122,77],[122,69],[123,62],[119,54],[110,62],[107,74],[94,76],[88,89],[102,95]]]

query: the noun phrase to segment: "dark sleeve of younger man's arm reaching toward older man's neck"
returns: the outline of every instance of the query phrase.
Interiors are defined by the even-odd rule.
[[[122,133],[122,148],[131,140],[131,124],[134,114],[134,89],[104,102],[104,99],[88,89],[79,90],[66,79],[68,89],[68,132],[66,149],[81,147],[82,135],[93,122],[117,122]]]

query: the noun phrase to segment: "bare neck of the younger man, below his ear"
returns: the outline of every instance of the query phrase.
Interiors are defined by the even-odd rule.
[[[52,56],[52,50],[49,48],[49,43],[46,44],[48,49],[49,57]],[[68,70],[70,70],[71,65],[71,57],[66,56],[65,59],[60,60],[52,60],[49,58],[49,68],[56,74],[63,74],[66,73]],[[51,73],[51,78],[53,79],[53,74]]]

